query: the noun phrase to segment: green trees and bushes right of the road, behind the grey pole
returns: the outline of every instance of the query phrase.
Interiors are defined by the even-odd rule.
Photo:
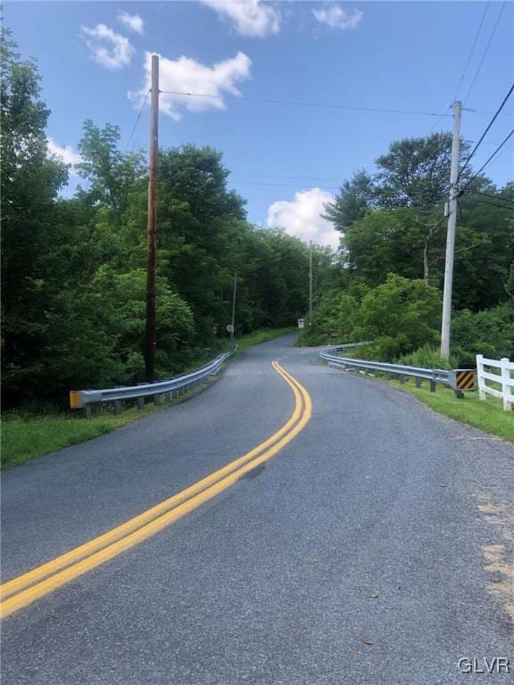
[[[373,341],[360,354],[419,366],[439,357],[452,137],[390,145],[371,174],[344,182],[327,218],[341,232],[344,285],[319,293],[303,341]],[[461,159],[468,156],[462,142]],[[464,164],[461,164],[461,169]],[[514,184],[460,175],[451,365],[475,354],[514,359]]]

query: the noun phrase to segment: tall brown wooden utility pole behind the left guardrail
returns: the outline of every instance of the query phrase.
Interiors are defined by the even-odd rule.
[[[150,117],[150,154],[148,161],[148,220],[146,223],[146,335],[145,379],[155,380],[155,248],[157,228],[157,151],[159,126],[159,55],[152,55],[152,113]]]

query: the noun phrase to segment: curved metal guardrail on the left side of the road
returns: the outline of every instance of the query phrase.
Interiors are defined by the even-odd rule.
[[[143,409],[145,398],[152,397],[155,404],[162,398],[171,399],[173,392],[183,392],[191,389],[204,378],[213,376],[220,371],[223,363],[237,350],[237,345],[219,357],[213,359],[204,367],[197,368],[190,374],[176,376],[168,381],[158,383],[144,383],[137,385],[122,386],[119,388],[106,388],[104,390],[70,390],[70,408],[83,409],[87,418],[91,417],[91,405],[101,402],[112,402],[114,413],[120,414],[123,400],[137,400],[137,408]]]

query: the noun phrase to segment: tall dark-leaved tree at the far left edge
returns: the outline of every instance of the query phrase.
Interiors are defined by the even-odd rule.
[[[8,30],[1,35],[2,356],[4,383],[38,354],[47,304],[41,257],[53,243],[54,200],[66,166],[50,157],[34,62],[21,62]]]

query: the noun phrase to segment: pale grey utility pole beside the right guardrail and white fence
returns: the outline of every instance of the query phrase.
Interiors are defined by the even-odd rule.
[[[450,328],[452,326],[453,255],[455,252],[455,225],[457,223],[457,180],[460,152],[460,102],[453,103],[452,167],[450,171],[450,202],[448,202],[448,233],[444,260],[443,325],[441,328],[441,356],[450,357]]]

